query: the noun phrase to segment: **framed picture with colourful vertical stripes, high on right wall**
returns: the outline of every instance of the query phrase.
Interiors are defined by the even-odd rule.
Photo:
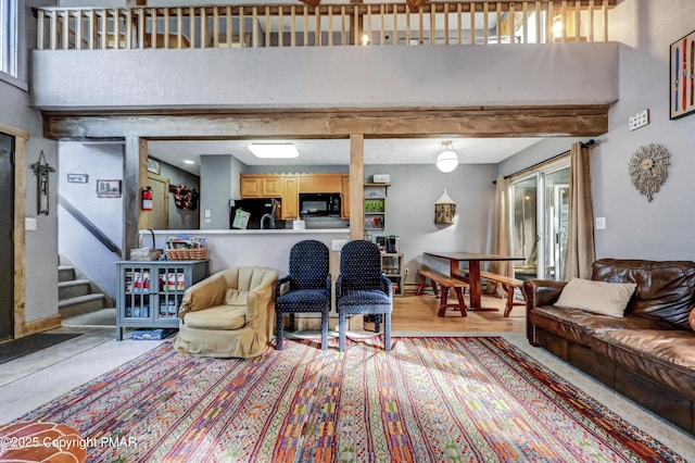
[[[670,117],[695,112],[695,30],[671,43]]]

